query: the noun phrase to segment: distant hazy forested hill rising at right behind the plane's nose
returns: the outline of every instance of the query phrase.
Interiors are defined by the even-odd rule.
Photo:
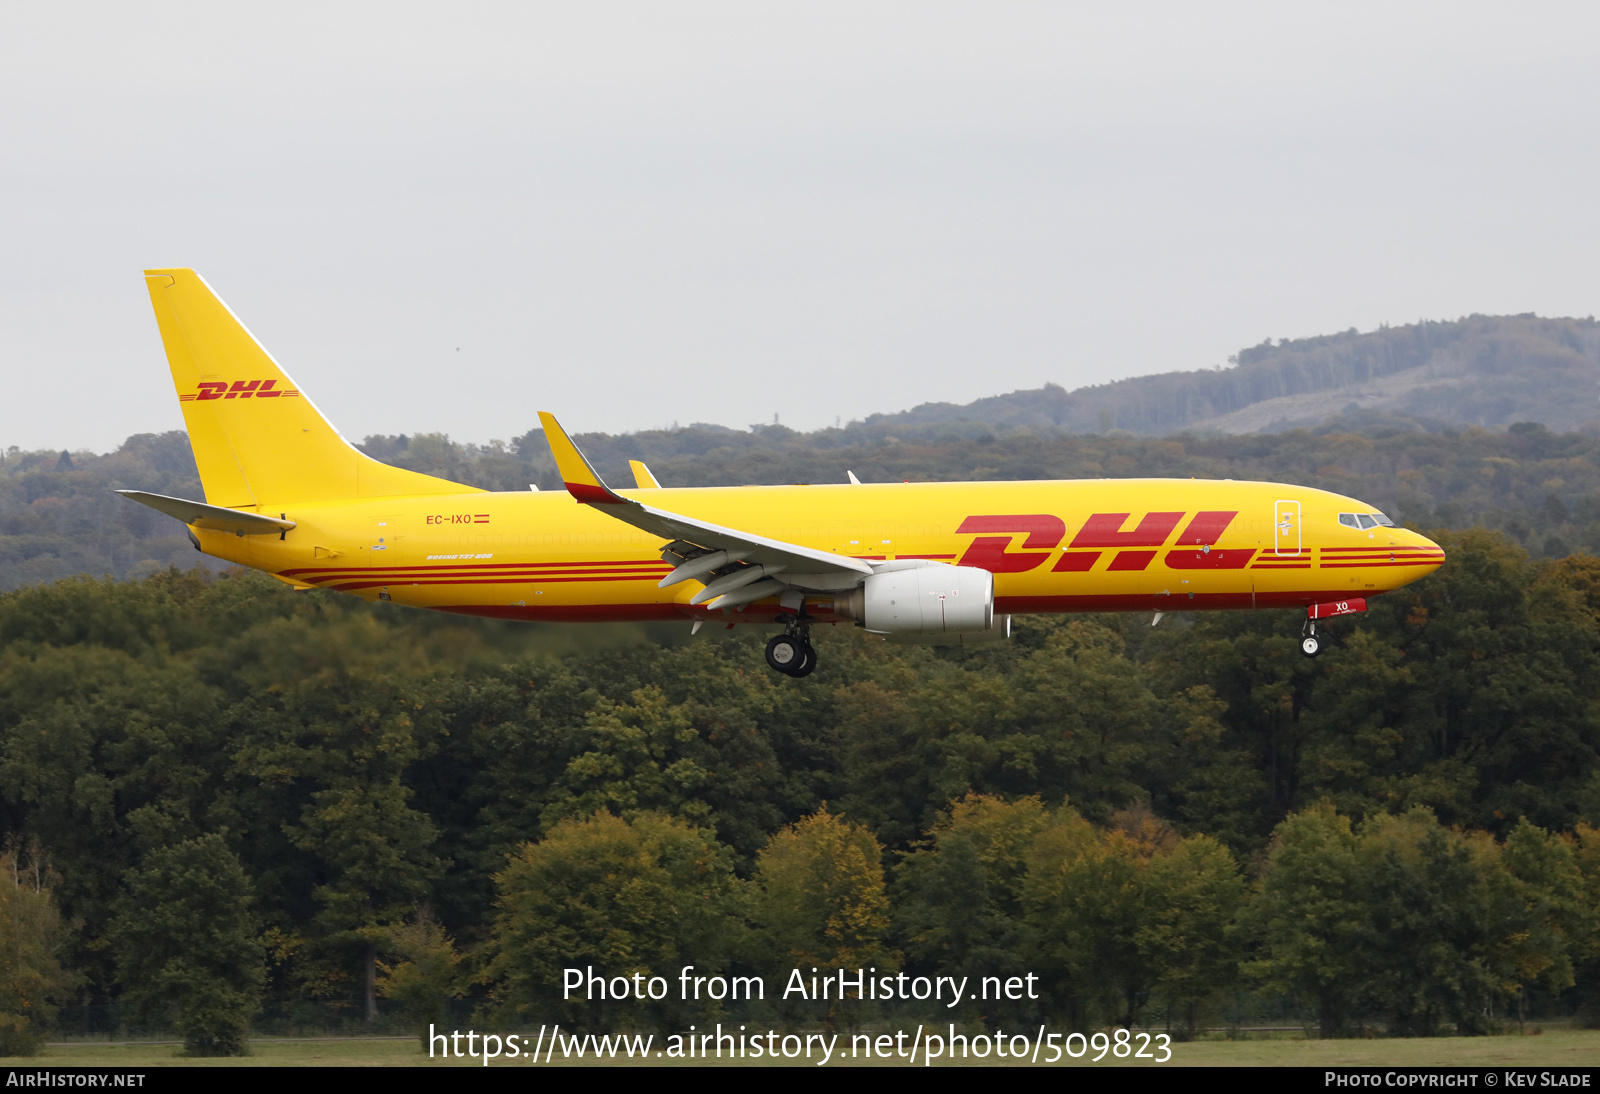
[[[1470,315],[1454,321],[1354,328],[1267,339],[1229,368],[1163,373],[1080,387],[1056,384],[874,414],[869,425],[984,422],[1034,430],[1146,435],[1181,430],[1258,433],[1365,413],[1413,425],[1555,430],[1600,421],[1600,325],[1587,318]]]

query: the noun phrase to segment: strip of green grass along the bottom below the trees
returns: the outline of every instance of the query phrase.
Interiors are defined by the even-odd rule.
[[[840,1038],[840,1044],[846,1044]],[[955,1062],[960,1065],[960,1060]],[[1110,1060],[1126,1067],[1130,1060]],[[251,1056],[226,1060],[192,1060],[179,1056],[178,1044],[106,1044],[77,1043],[51,1044],[42,1056],[29,1059],[3,1059],[0,1065],[27,1067],[482,1067],[482,1060],[427,1059],[416,1041],[384,1038],[328,1038],[328,1040],[256,1040]],[[552,1067],[816,1067],[816,1060],[566,1060],[558,1056]],[[907,1067],[906,1060],[838,1059],[829,1067],[870,1065]],[[968,1065],[1022,1067],[1021,1060],[970,1060]],[[1062,1060],[1058,1067],[1091,1065],[1088,1059]],[[1141,1067],[1155,1067],[1139,1062]],[[1158,1067],[1597,1067],[1600,1065],[1600,1030],[1549,1028],[1539,1036],[1450,1036],[1430,1040],[1366,1040],[1366,1041],[1307,1041],[1307,1040],[1254,1040],[1254,1041],[1197,1041],[1174,1044],[1173,1060]],[[493,1060],[490,1067],[533,1068],[526,1059]],[[922,1062],[917,1062],[922,1067]],[[936,1060],[934,1067],[950,1067],[949,1060]]]

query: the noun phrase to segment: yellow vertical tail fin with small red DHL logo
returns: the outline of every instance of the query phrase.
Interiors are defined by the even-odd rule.
[[[205,497],[245,509],[462,486],[357,451],[194,270],[146,270]]]

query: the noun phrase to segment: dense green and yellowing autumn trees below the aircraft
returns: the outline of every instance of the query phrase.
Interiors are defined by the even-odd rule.
[[[1230,992],[1326,1033],[1594,1009],[1600,560],[1435,536],[1315,661],[1293,613],[1024,617],[824,629],[802,681],[758,633],[560,653],[240,571],[3,593],[0,942],[48,955],[5,1028],[525,1022],[558,961],[1032,971],[1053,1019],[1179,1030]]]

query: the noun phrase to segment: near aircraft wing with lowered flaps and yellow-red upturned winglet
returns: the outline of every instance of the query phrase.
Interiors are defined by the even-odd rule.
[[[578,451],[578,445],[573,443],[573,438],[566,435],[566,430],[562,429],[562,424],[552,414],[539,411],[539,421],[544,424],[544,437],[550,441],[550,451],[555,456],[557,469],[562,472],[562,481],[566,483],[566,491],[573,497],[640,531],[674,541],[667,547],[685,561],[661,582],[662,587],[701,574],[710,574],[715,569],[739,566],[744,571],[741,576],[749,577],[749,581],[723,585],[728,592],[718,601],[720,606],[733,606],[734,603],[747,603],[742,597],[760,587],[766,587],[765,595],[773,595],[774,589],[768,582],[754,584],[758,577],[776,579],[784,585],[798,589],[843,590],[854,589],[861,584],[862,577],[872,573],[872,566],[859,558],[802,547],[800,544],[789,544],[781,539],[766,539],[765,536],[755,536],[736,528],[723,528],[722,525],[712,525],[694,517],[670,513],[654,505],[645,505],[632,497],[622,497],[605,485],[589,464],[589,459]],[[686,550],[678,550],[678,547],[685,547]],[[726,557],[722,560],[722,565],[696,565],[701,558],[715,561],[712,555],[723,552]],[[762,573],[749,573],[752,568],[760,568]],[[709,582],[701,595],[710,593],[715,597],[714,590],[718,581],[734,581],[734,574],[723,574],[722,579]],[[691,603],[701,601],[696,598]]]

